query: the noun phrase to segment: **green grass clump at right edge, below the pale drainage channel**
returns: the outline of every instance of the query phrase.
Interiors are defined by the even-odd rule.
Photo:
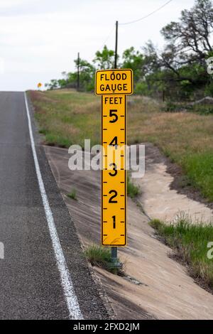
[[[165,244],[174,249],[176,257],[187,264],[190,275],[213,289],[213,225],[193,225],[185,217],[175,224],[165,225],[152,220],[151,226],[163,238]]]

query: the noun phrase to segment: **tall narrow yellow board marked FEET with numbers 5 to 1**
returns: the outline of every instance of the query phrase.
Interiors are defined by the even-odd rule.
[[[102,244],[126,245],[126,96],[102,96]]]

